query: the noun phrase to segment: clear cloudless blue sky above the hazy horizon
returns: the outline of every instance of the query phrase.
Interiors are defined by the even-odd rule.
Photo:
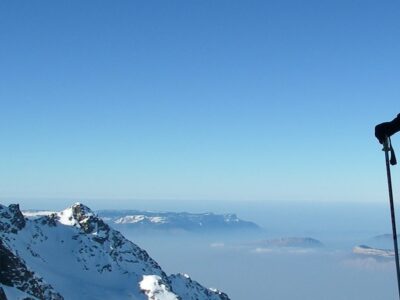
[[[386,200],[399,83],[398,0],[1,1],[0,198]]]

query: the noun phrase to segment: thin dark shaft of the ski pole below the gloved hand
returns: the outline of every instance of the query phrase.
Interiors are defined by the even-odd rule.
[[[396,216],[394,213],[394,202],[393,202],[392,175],[390,173],[390,162],[389,162],[390,148],[391,148],[391,145],[389,142],[389,138],[386,138],[386,140],[383,144],[383,150],[385,151],[385,159],[386,159],[386,173],[387,173],[388,189],[389,189],[390,215],[391,215],[391,219],[392,219],[394,255],[395,255],[395,260],[396,260],[397,288],[398,288],[399,299],[400,299],[400,264],[399,264],[399,249],[398,249],[398,245],[397,245]]]

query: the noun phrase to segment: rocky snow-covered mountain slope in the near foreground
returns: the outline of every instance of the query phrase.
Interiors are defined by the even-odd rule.
[[[34,218],[18,205],[0,205],[0,238],[0,294],[9,299],[229,299],[187,275],[166,275],[79,203]]]

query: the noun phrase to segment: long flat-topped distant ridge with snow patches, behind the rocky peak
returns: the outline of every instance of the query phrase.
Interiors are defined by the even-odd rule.
[[[236,214],[149,212],[139,210],[100,210],[105,221],[116,226],[146,230],[183,230],[188,232],[260,230]]]

